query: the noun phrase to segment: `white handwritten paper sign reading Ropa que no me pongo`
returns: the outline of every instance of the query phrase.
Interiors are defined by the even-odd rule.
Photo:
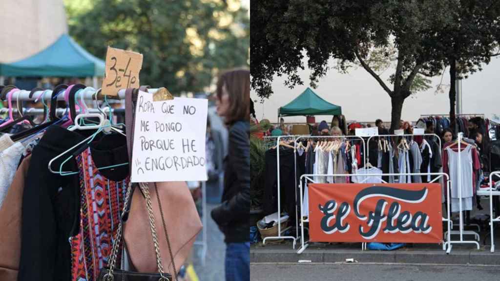
[[[208,101],[175,97],[153,101],[139,91],[135,108],[132,182],[207,180]]]

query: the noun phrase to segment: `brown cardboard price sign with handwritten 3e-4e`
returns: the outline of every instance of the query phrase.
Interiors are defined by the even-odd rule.
[[[142,54],[108,46],[102,94],[118,95],[118,90],[139,87]]]

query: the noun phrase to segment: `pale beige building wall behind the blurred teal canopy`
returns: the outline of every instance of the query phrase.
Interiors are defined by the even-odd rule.
[[[0,62],[31,56],[67,33],[62,0],[0,0]]]

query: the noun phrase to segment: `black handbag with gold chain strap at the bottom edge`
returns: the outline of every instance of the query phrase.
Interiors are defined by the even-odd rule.
[[[157,273],[141,273],[141,272],[133,272],[133,271],[124,271],[120,269],[114,268],[116,263],[116,255],[119,251],[119,248],[123,244],[123,221],[126,220],[126,214],[128,212],[128,203],[130,201],[130,196],[132,193],[132,183],[129,182],[127,186],[127,191],[125,194],[125,200],[123,202],[123,211],[121,213],[122,219],[118,224],[118,229],[116,231],[116,235],[114,237],[113,247],[111,249],[111,256],[109,258],[109,268],[102,268],[99,272],[99,276],[97,278],[98,281],[173,281],[172,276],[168,273],[165,273],[163,269],[163,265],[161,264],[160,251],[158,246],[158,237],[156,235],[156,226],[154,223],[154,215],[151,207],[151,197],[149,195],[149,190],[147,184],[138,183],[142,193],[144,194],[146,200],[146,208],[149,217],[149,228],[151,230],[151,235],[153,238],[154,251],[156,254],[156,266],[158,269]],[[125,219],[123,219],[125,218]],[[173,262],[173,261],[172,261]],[[175,276],[176,279],[177,276]]]

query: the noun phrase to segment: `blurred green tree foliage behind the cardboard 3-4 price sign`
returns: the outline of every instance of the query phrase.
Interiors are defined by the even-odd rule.
[[[70,35],[105,57],[108,45],[143,54],[140,83],[206,91],[221,69],[248,66],[249,18],[237,0],[65,0]]]

